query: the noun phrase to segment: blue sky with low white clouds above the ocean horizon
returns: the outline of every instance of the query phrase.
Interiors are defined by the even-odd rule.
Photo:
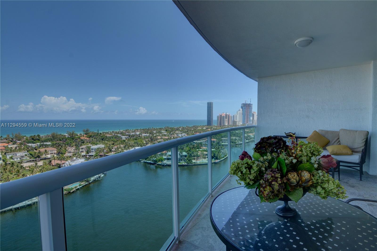
[[[206,119],[257,83],[172,1],[1,1],[1,119]]]

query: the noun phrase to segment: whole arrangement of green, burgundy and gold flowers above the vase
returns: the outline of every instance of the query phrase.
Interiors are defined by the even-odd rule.
[[[296,142],[293,133],[289,144],[278,136],[261,138],[254,154],[242,152],[233,161],[230,174],[244,182],[248,189],[258,188],[261,202],[275,202],[287,195],[298,202],[305,193],[327,199],[345,199],[346,190],[328,170],[337,166],[331,155],[320,156],[322,148],[316,142]]]

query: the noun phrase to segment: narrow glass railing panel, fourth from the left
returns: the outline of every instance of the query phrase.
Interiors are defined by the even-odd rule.
[[[229,173],[228,133],[212,136],[212,188]]]

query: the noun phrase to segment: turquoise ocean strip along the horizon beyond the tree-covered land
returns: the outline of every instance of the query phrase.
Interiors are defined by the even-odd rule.
[[[214,120],[214,125],[216,125]],[[26,127],[9,127],[8,123],[24,123]],[[32,126],[29,126],[29,124]],[[34,124],[63,124],[63,127],[35,127]],[[64,127],[65,124],[74,127]],[[21,135],[47,135],[52,132],[66,133],[67,131],[75,131],[81,133],[83,129],[89,129],[97,132],[109,132],[124,129],[141,129],[149,127],[175,127],[175,126],[202,126],[207,124],[205,119],[60,119],[60,120],[0,120],[0,135],[5,137],[12,133],[21,133]]]

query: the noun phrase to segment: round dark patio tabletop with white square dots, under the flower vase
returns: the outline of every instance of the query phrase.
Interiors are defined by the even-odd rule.
[[[254,189],[219,194],[210,219],[227,250],[377,250],[377,219],[341,200],[307,193],[289,202],[297,214],[282,217],[282,201],[260,203]]]

